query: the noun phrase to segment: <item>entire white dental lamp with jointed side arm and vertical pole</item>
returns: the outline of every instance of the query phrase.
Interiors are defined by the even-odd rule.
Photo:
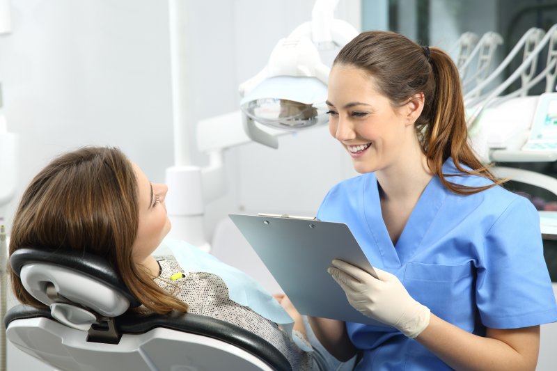
[[[173,228],[169,237],[184,239],[210,251],[205,238],[206,203],[225,194],[223,150],[257,142],[278,148],[278,135],[315,127],[328,122],[327,81],[330,68],[322,63],[320,52],[343,47],[358,31],[351,24],[334,19],[338,0],[317,0],[311,22],[298,26],[278,41],[269,62],[255,77],[240,84],[240,110],[201,120],[188,127],[183,118],[189,103],[186,55],[180,35],[186,13],[185,1],[169,3],[171,24],[171,63],[173,74],[173,118],[175,166],[166,169],[168,192],[166,208]],[[199,152],[209,155],[209,165],[192,164],[187,132],[196,129]],[[157,253],[163,253],[164,246]]]

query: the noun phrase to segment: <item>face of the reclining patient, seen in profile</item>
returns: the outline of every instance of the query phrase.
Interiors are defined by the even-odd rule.
[[[134,260],[143,263],[150,258],[171,228],[164,205],[168,187],[166,184],[150,182],[139,166],[132,165],[139,187],[139,226],[134,242]]]

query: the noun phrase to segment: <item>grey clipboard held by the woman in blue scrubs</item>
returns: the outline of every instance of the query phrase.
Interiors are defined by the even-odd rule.
[[[299,313],[385,326],[354,309],[327,273],[339,258],[377,277],[346,224],[275,214],[228,216]]]

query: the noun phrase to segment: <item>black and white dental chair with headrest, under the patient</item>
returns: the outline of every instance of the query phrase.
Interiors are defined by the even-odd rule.
[[[10,265],[49,308],[8,310],[6,338],[56,370],[292,370],[269,342],[238,326],[191,313],[139,314],[102,258],[22,248]]]

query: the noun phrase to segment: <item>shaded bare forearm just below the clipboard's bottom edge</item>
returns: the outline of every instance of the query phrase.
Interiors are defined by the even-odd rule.
[[[338,361],[348,361],[356,354],[356,347],[348,338],[345,322],[319,317],[308,317],[308,322],[317,340]]]

